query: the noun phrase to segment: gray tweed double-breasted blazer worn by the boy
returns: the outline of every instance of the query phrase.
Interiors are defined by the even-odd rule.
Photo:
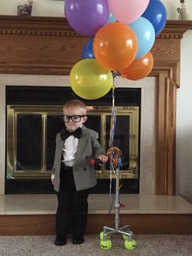
[[[90,159],[105,154],[102,146],[98,143],[98,133],[90,130],[85,126],[81,127],[82,136],[79,139],[76,158],[72,168],[76,191],[81,191],[86,188],[92,188],[96,185],[97,179],[94,174],[94,166],[90,164]],[[59,174],[61,167],[61,157],[63,150],[63,140],[60,133],[56,135],[55,160],[52,169],[52,174],[55,174],[54,189],[59,192]]]

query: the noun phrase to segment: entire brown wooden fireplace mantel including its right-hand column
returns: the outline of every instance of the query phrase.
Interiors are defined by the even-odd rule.
[[[192,21],[168,20],[151,52],[156,77],[155,193],[175,194],[176,94],[179,87],[181,38]],[[88,38],[65,18],[0,15],[0,73],[68,75],[81,60]]]

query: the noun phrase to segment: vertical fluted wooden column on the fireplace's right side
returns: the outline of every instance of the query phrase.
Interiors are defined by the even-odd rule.
[[[172,196],[176,191],[177,85],[161,73],[157,86],[156,194]]]

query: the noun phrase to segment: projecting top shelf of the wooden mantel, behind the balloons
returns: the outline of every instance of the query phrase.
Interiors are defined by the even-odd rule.
[[[59,31],[61,36],[66,36],[66,33],[79,36],[64,17],[0,15],[0,34],[11,33],[11,30],[12,33],[21,33],[20,30],[24,33],[24,29],[37,29],[39,35],[50,35]],[[157,38],[182,38],[182,34],[188,29],[192,29],[192,20],[167,20],[164,30]]]

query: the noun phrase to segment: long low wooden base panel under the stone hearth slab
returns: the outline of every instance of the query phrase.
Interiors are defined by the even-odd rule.
[[[89,214],[87,234],[114,227],[114,214]],[[192,234],[192,214],[121,214],[134,234]],[[55,215],[0,216],[0,236],[55,236]]]

